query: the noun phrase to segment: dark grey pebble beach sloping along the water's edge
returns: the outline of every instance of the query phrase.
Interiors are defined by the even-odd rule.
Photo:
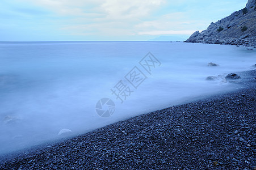
[[[256,70],[241,74],[238,91],[0,156],[0,169],[253,169]]]

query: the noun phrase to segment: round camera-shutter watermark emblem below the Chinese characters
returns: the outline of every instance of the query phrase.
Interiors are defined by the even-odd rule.
[[[96,103],[96,112],[101,117],[110,117],[115,112],[115,103],[111,99],[103,98]]]

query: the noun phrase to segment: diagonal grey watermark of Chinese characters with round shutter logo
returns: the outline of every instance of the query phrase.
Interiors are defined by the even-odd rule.
[[[140,67],[144,69],[144,72],[141,71],[139,67],[135,66],[124,76],[125,80],[119,80],[119,82],[110,89],[111,95],[114,95],[115,99],[119,100],[121,104],[148,78],[146,74],[151,75],[153,69],[161,66],[161,62],[150,52],[141,59],[139,64]],[[128,84],[125,82],[128,82]],[[109,98],[100,99],[96,104],[96,113],[101,117],[109,117],[114,112],[115,103]]]

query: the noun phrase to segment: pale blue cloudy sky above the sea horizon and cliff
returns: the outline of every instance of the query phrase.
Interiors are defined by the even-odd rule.
[[[1,0],[0,41],[189,37],[247,0]]]

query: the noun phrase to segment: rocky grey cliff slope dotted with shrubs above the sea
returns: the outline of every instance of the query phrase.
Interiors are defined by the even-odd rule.
[[[256,0],[249,0],[244,9],[211,23],[201,33],[194,32],[185,42],[256,47]]]

